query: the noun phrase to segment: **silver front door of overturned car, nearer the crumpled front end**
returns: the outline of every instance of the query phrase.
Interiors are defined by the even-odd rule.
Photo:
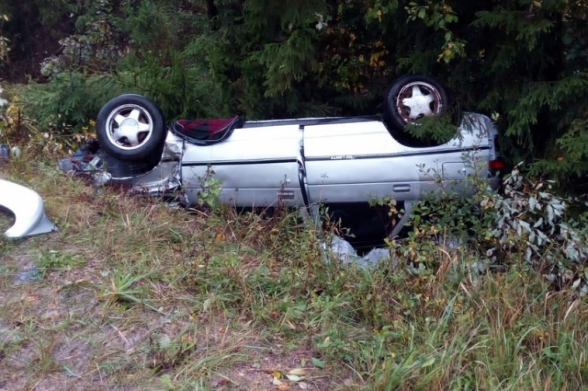
[[[220,181],[220,201],[239,207],[300,206],[299,125],[244,127],[222,143],[186,144],[182,182],[191,203],[198,203],[203,180]]]

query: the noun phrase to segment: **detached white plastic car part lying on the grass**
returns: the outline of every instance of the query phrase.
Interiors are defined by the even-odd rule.
[[[0,208],[8,209],[15,217],[5,232],[9,238],[44,234],[57,228],[45,215],[41,196],[28,187],[0,180]]]

